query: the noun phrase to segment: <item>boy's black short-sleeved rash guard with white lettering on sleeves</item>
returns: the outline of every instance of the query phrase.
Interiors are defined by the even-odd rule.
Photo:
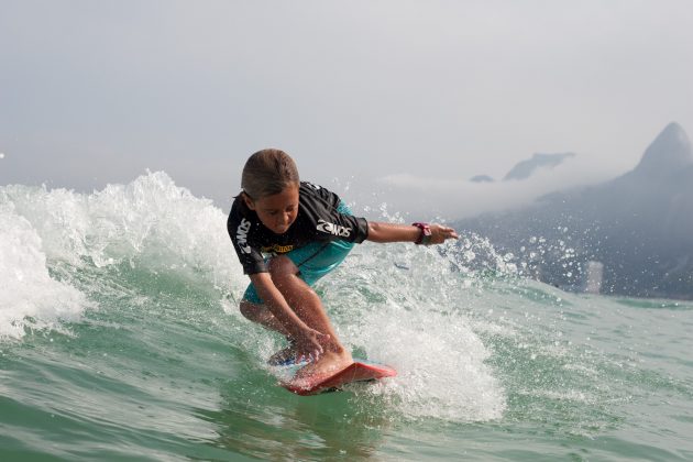
[[[365,218],[339,211],[339,196],[323,187],[301,182],[298,216],[284,234],[275,234],[248,208],[241,197],[231,206],[227,230],[244,274],[266,273],[263,254],[283,254],[319,241],[342,240],[361,243],[369,237]]]

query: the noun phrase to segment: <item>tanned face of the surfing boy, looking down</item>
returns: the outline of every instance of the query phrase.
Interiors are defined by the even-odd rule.
[[[260,199],[244,195],[245,205],[255,210],[257,218],[275,234],[284,234],[298,216],[298,185],[290,185],[279,194]]]

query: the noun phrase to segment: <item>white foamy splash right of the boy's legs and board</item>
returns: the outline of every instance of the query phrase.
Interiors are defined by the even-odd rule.
[[[473,298],[463,273],[450,271],[437,250],[406,244],[369,243],[352,256],[342,273],[349,276],[324,283],[324,302],[348,345],[397,369],[397,377],[370,389],[408,418],[501,418],[505,391],[460,306]]]

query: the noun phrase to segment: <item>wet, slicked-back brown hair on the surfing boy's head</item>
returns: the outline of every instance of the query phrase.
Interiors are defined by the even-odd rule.
[[[257,151],[245,162],[241,187],[251,199],[261,199],[299,182],[294,160],[282,150],[270,148]]]

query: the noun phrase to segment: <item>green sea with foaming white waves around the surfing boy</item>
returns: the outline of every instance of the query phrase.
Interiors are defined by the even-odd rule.
[[[0,187],[0,461],[693,460],[691,302],[568,294],[483,239],[365,243],[317,290],[399,375],[299,397],[224,227],[161,173]]]

